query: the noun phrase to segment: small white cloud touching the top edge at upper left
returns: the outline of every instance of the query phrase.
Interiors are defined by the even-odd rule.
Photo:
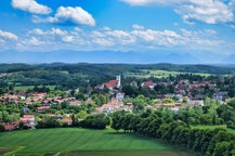
[[[12,0],[12,6],[34,14],[50,14],[52,10],[36,0]]]

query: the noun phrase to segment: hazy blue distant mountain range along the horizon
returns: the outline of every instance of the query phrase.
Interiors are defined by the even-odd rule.
[[[235,54],[222,55],[208,52],[192,54],[169,51],[115,52],[115,51],[71,51],[52,52],[0,52],[0,63],[131,63],[131,64],[235,64]]]

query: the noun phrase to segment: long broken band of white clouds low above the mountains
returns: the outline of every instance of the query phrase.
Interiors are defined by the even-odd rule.
[[[214,49],[224,43],[217,39],[217,31],[212,29],[187,30],[156,30],[144,28],[141,25],[132,26],[130,30],[112,28],[81,29],[75,27],[73,30],[51,28],[42,30],[32,29],[27,34],[30,42],[43,41],[49,49],[73,48],[77,50],[119,50],[119,51],[145,51],[160,48],[185,48]],[[35,40],[32,40],[35,37]],[[36,40],[37,39],[37,40]]]

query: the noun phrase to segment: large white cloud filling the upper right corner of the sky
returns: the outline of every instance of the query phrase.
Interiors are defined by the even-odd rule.
[[[207,24],[234,22],[234,0],[224,3],[220,0],[121,0],[131,5],[172,6],[185,23],[195,21]]]

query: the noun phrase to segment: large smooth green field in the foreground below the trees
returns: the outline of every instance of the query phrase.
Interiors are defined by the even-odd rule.
[[[192,156],[179,147],[134,134],[113,130],[77,128],[40,129],[0,133],[0,153],[18,148],[6,155],[35,156]],[[5,147],[5,148],[2,148]]]

